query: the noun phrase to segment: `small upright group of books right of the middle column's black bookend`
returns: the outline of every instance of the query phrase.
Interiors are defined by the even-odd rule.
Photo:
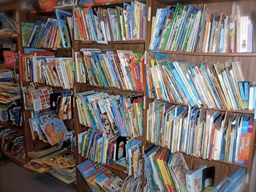
[[[142,175],[142,141],[130,139],[125,147],[127,174],[135,179],[140,178]]]

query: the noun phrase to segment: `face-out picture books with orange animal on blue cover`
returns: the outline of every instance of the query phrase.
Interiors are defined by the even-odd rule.
[[[56,145],[68,133],[63,120],[53,117],[50,114],[40,114],[29,118],[29,125],[33,140],[38,136],[39,140]]]

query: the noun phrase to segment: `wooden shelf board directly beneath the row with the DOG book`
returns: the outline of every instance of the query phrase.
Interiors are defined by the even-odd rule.
[[[174,55],[191,55],[191,56],[256,57],[256,52],[255,53],[201,53],[201,52],[159,51],[159,53],[174,54]]]

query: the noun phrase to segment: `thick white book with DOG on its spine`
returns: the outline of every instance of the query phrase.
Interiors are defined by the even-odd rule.
[[[249,16],[244,16],[240,18],[240,41],[239,41],[239,51],[241,53],[247,52],[248,48],[248,25],[251,24]]]

